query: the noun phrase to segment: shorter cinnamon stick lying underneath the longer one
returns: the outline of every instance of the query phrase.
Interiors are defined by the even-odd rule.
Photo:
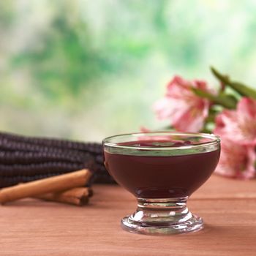
[[[44,195],[37,195],[35,198],[58,203],[70,203],[75,206],[83,206],[89,203],[92,189],[89,187],[75,187],[63,192],[53,192]]]

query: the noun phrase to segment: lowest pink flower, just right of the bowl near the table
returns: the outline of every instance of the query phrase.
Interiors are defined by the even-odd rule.
[[[215,173],[231,178],[255,176],[255,147],[222,139],[222,151]]]

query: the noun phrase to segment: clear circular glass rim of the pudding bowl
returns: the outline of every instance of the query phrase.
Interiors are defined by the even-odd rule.
[[[185,145],[185,146],[171,146],[171,147],[151,147],[151,146],[126,146],[126,145],[118,145],[118,143],[113,143],[109,142],[108,140],[111,140],[113,138],[121,138],[125,136],[164,136],[164,135],[183,135],[183,136],[195,136],[198,138],[208,138],[211,139],[210,141],[203,142],[203,143],[197,143],[197,144],[192,144],[192,145]],[[131,140],[132,141],[132,140]],[[119,134],[119,135],[113,135],[105,138],[102,140],[102,145],[103,146],[109,146],[109,147],[114,147],[114,148],[129,148],[129,149],[143,149],[143,150],[151,150],[151,151],[162,151],[162,150],[178,150],[178,149],[189,149],[189,148],[203,148],[206,146],[214,146],[217,144],[220,144],[220,138],[218,135],[214,135],[213,133],[201,133],[201,132],[167,132],[167,131],[158,131],[158,132],[131,132],[131,133],[124,133],[124,134]]]

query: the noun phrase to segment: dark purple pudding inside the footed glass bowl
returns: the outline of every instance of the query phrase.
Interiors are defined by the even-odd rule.
[[[108,152],[104,150],[105,166],[113,178],[142,198],[186,197],[198,189],[214,172],[219,161],[220,148],[194,154],[146,155],[146,147],[170,148],[167,140],[136,140],[118,143],[119,146],[137,146],[140,150]],[[172,143],[173,147],[189,146],[189,140]]]

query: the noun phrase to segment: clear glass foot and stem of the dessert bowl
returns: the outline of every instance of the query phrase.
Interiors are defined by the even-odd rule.
[[[203,219],[187,208],[188,197],[138,198],[132,215],[121,220],[124,230],[145,235],[189,233],[203,228]]]

